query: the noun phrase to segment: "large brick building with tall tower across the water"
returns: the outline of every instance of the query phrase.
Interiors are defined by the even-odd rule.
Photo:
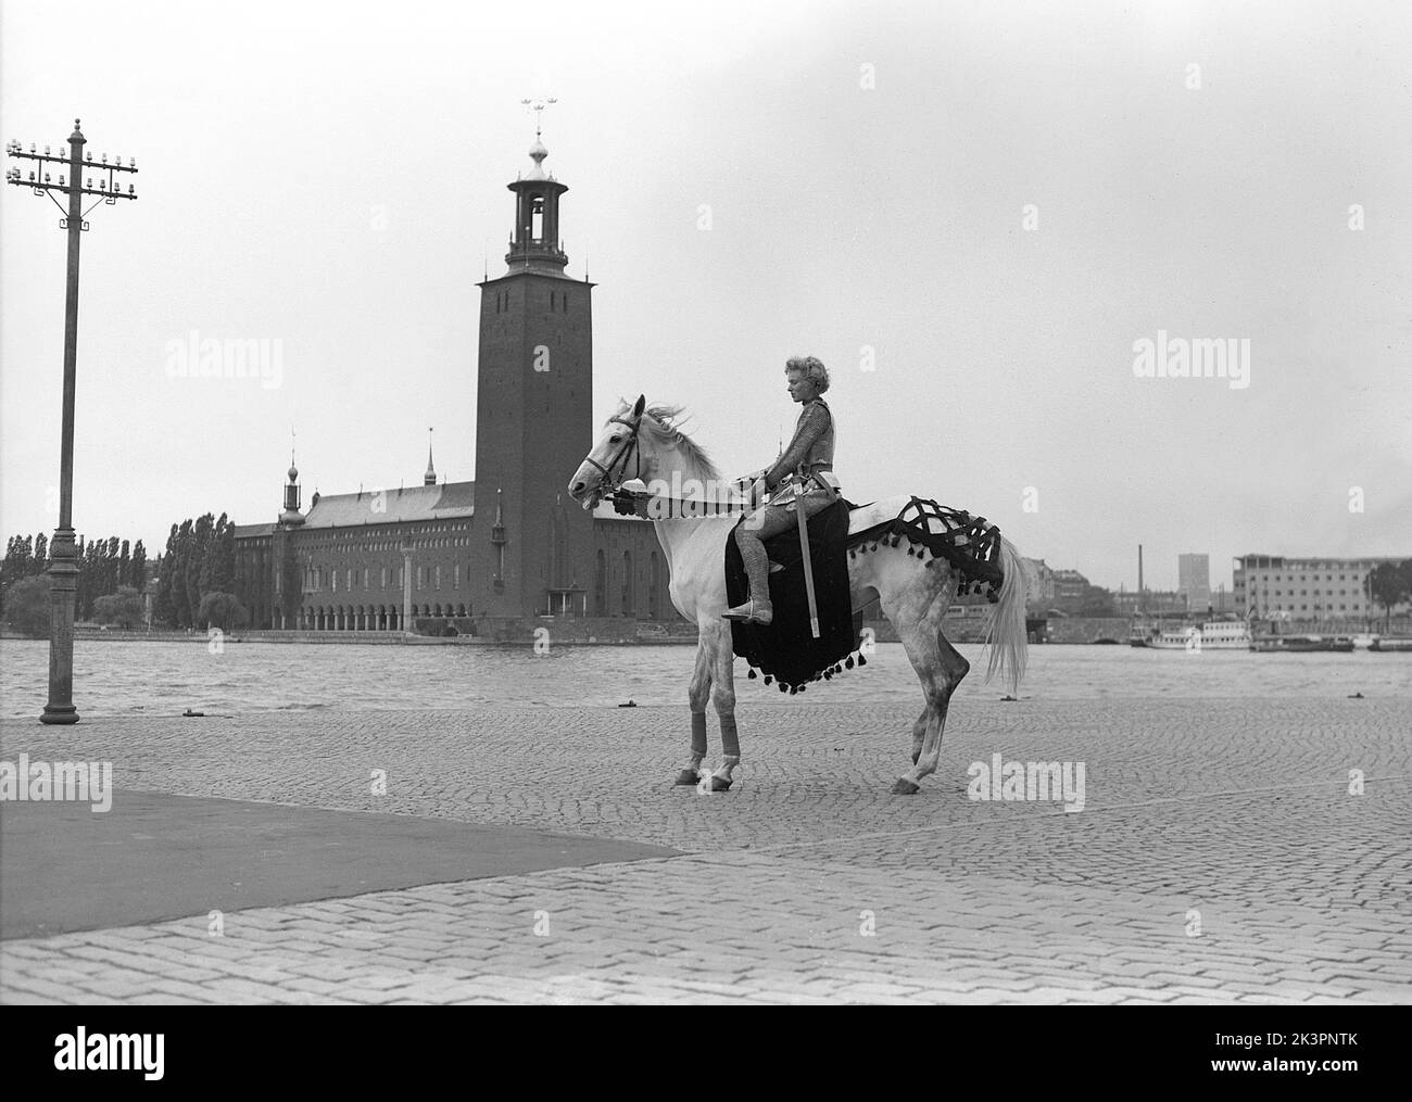
[[[593,284],[565,274],[559,199],[534,168],[515,196],[508,270],[480,284],[476,480],[315,494],[292,461],[273,523],[236,528],[251,628],[491,634],[530,617],[681,619],[652,525],[565,494],[593,447]],[[428,624],[426,621],[431,621]]]

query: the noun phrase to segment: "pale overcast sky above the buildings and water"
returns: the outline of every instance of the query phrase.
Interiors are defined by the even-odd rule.
[[[271,521],[291,425],[305,501],[418,484],[432,425],[474,478],[476,282],[546,95],[594,425],[645,392],[758,468],[812,353],[850,498],[1099,584],[1138,543],[1158,588],[1180,552],[1213,587],[1245,552],[1412,556],[1409,13],[8,0],[3,138],[80,116],[140,169],[83,236],[75,528],[155,556]],[[6,536],[58,519],[58,217],[4,188]],[[1248,385],[1138,378],[1159,330],[1248,339]],[[278,341],[280,378],[174,378],[193,332]]]

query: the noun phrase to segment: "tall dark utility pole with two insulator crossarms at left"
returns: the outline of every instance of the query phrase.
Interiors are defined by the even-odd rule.
[[[51,155],[49,147],[38,152],[34,144],[25,152],[18,141],[6,145],[6,152],[21,161],[30,161],[34,168],[11,168],[6,172],[8,183],[31,188],[35,195],[48,195],[49,200],[64,212],[64,205],[54,192],[68,196],[69,205],[59,229],[69,233],[68,288],[64,299],[64,428],[59,442],[59,526],[49,542],[49,701],[44,706],[40,722],[76,724],[78,710],[73,707],[73,600],[78,591],[78,549],[73,543],[73,385],[78,363],[79,340],[79,234],[88,229],[85,216],[99,203],[114,205],[119,199],[136,199],[137,189],[128,183],[127,190],[114,174],[137,172],[136,158],[127,165],[119,158],[109,162],[107,154],[95,162],[93,154],[85,154],[85,138],[79,120],[73,120],[69,134],[69,155]],[[62,145],[59,147],[64,148]],[[49,166],[58,174],[52,179]],[[85,178],[86,174],[86,178]],[[65,181],[65,176],[68,178]],[[95,186],[96,178],[96,186]],[[97,196],[88,210],[83,196]]]

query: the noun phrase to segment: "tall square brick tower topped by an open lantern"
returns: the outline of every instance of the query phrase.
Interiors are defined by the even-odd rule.
[[[480,284],[477,617],[582,615],[592,581],[593,518],[565,487],[593,447],[593,284],[563,271],[559,199],[569,189],[544,171],[548,155],[537,128],[534,168],[508,185],[508,271]]]

